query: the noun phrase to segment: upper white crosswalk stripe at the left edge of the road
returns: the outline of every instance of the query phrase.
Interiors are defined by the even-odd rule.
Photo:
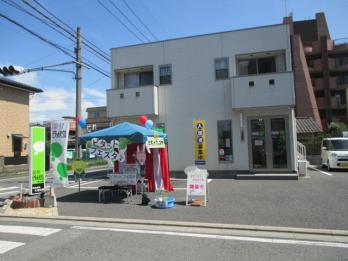
[[[61,231],[59,228],[0,225],[0,233],[46,237],[59,231]]]

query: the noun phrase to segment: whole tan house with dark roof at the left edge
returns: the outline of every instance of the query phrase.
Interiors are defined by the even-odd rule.
[[[42,90],[0,78],[0,173],[26,165],[29,150],[29,95]]]

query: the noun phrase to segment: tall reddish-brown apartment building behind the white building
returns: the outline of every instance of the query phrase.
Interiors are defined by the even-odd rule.
[[[283,22],[291,34],[296,116],[312,117],[324,130],[332,121],[348,124],[348,39],[331,39],[324,13]]]

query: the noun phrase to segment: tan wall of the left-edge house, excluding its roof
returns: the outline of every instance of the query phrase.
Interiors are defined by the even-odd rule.
[[[28,155],[29,93],[0,85],[0,156],[13,156],[12,134],[23,135],[21,156]]]

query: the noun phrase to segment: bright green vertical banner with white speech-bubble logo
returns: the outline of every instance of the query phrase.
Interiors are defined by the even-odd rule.
[[[30,128],[29,191],[38,194],[45,189],[45,128]]]

